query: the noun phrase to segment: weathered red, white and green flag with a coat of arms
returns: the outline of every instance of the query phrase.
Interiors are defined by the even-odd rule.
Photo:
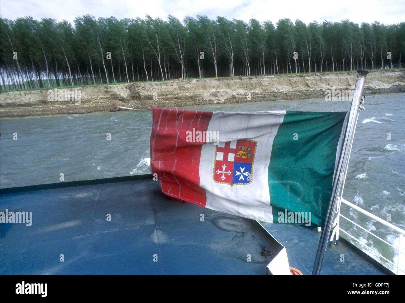
[[[323,226],[347,112],[152,113],[151,172],[164,194],[263,222],[304,225],[309,213]]]

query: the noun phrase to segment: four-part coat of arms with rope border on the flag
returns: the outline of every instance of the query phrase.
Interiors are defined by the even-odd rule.
[[[257,141],[240,139],[222,142],[215,149],[213,178],[230,186],[250,184]]]

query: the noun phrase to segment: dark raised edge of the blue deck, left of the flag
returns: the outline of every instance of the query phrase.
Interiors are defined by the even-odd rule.
[[[69,182],[59,182],[51,184],[38,184],[29,186],[19,186],[19,187],[9,187],[0,188],[0,194],[12,194],[16,192],[32,192],[36,190],[49,190],[55,188],[67,188],[75,186],[86,186],[95,184],[106,184],[106,183],[117,183],[117,182],[128,182],[128,181],[138,181],[152,179],[152,174],[145,175],[134,175],[134,176],[123,176],[123,177],[112,177],[105,179],[92,179],[92,180],[82,180],[82,181],[69,181]]]

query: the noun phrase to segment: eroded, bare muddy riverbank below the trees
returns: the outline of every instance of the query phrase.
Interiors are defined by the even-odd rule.
[[[356,73],[185,79],[58,89],[78,91],[75,101],[52,101],[48,90],[0,93],[0,117],[33,117],[114,111],[118,106],[151,109],[274,100],[324,98],[326,90],[352,90]],[[373,71],[365,94],[405,92],[404,70]],[[79,94],[77,94],[79,93]],[[55,99],[57,99],[55,97]],[[51,101],[49,101],[51,100]],[[74,99],[70,99],[74,100]],[[77,104],[80,103],[80,104]]]

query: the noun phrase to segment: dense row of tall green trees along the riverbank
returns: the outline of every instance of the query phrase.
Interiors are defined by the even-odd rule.
[[[405,23],[0,19],[2,89],[404,66]]]

